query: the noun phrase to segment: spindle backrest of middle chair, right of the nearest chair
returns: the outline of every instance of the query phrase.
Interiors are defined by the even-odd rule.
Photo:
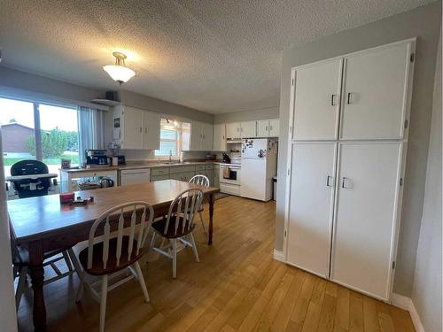
[[[181,235],[192,227],[194,215],[200,209],[203,191],[198,188],[183,190],[169,206],[164,234],[167,234],[170,223],[174,223],[174,234]]]

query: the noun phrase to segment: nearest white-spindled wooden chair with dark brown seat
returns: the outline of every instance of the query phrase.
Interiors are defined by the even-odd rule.
[[[140,222],[136,235],[137,215],[140,216]],[[138,260],[144,255],[144,241],[151,227],[153,215],[152,205],[144,202],[129,202],[117,205],[104,212],[90,228],[88,247],[79,253],[83,273],[76,301],[80,301],[83,289],[86,288],[100,303],[100,331],[105,330],[108,291],[136,278],[142,288],[144,300],[149,302],[148,290]],[[129,222],[128,228],[124,228],[125,219]],[[111,224],[114,223],[116,224],[117,235],[111,238]],[[102,238],[96,237],[99,226],[100,228],[103,226]],[[128,232],[129,235],[123,235],[123,230],[125,230],[125,233]],[[128,276],[108,286],[110,279],[128,270],[130,272]],[[87,278],[91,279],[90,276],[100,276],[101,278],[96,282],[87,281]],[[101,290],[95,290],[94,287],[100,282]]]

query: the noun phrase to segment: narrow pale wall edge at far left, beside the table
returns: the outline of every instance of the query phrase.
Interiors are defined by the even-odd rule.
[[[15,313],[14,284],[12,282],[12,259],[9,235],[8,213],[6,210],[6,192],[4,190],[4,169],[2,153],[2,133],[0,129],[0,329],[17,331]],[[9,266],[9,268],[8,268]]]

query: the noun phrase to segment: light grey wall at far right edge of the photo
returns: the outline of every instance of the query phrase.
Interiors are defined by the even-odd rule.
[[[427,332],[443,329],[441,322],[441,40],[433,101],[423,219],[412,290],[412,300]]]

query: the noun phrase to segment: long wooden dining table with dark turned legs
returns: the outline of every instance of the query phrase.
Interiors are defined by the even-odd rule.
[[[29,252],[34,290],[35,331],[46,329],[43,296],[43,256],[47,251],[67,248],[88,239],[92,223],[115,205],[143,201],[152,205],[154,218],[165,216],[169,205],[185,189],[199,188],[209,203],[208,244],[213,243],[214,194],[220,189],[183,181],[164,180],[121,187],[78,191],[75,197],[94,197],[88,205],[61,205],[58,195],[31,197],[8,202],[12,232],[17,243]]]

